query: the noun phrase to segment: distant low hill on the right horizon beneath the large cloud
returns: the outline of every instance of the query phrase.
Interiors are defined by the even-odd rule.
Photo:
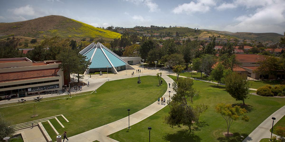
[[[228,32],[228,31],[216,31],[216,30],[207,30],[207,29],[202,29],[202,30],[217,33],[217,34],[234,36],[240,39],[249,39],[249,40],[257,40],[257,41],[278,42],[281,37],[284,37],[284,35],[277,34],[277,33],[251,33],[251,32],[233,33],[233,32]]]

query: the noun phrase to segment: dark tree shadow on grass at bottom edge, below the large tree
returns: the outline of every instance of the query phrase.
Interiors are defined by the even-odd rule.
[[[189,142],[189,141],[195,141],[200,142],[201,138],[198,135],[195,135],[194,133],[189,133],[188,130],[181,130],[177,131],[176,133],[166,133],[165,137],[163,137],[166,141],[178,141],[179,142]]]

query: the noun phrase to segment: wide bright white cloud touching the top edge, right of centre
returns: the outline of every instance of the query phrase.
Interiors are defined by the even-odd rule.
[[[175,14],[186,13],[191,14],[195,12],[208,12],[211,9],[211,6],[215,6],[216,2],[214,0],[197,0],[195,3],[191,1],[190,3],[184,3],[175,7],[172,12]]]

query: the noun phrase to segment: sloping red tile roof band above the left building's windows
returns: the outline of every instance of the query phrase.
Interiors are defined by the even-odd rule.
[[[60,68],[49,68],[41,70],[26,70],[20,72],[0,73],[0,82],[11,82],[17,80],[30,80],[34,78],[46,78],[57,76]]]

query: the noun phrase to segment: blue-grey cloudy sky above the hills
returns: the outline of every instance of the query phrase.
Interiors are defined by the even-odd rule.
[[[0,22],[62,15],[95,27],[285,31],[285,0],[0,0]]]

